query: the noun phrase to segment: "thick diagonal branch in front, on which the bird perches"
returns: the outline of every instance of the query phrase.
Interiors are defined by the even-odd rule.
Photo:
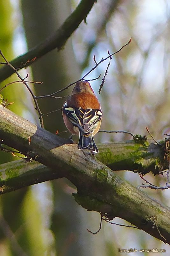
[[[75,144],[67,144],[68,140],[45,131],[3,106],[0,106],[0,138],[4,140],[4,144],[35,157],[39,163],[55,170],[37,164],[35,168],[40,168],[41,177],[38,178],[38,182],[48,180],[50,175],[53,176],[52,178],[66,177],[77,187],[78,193],[74,195],[76,201],[86,209],[105,213],[110,219],[118,216],[170,244],[170,209],[117,177],[94,156],[78,150]],[[27,166],[29,163],[24,164]],[[35,174],[34,163],[31,164],[33,167],[31,172]],[[29,172],[24,171],[25,174],[20,174],[20,171],[18,169],[15,171],[13,166],[8,173],[3,170],[2,193],[3,189],[7,189],[6,186],[16,184],[15,179],[18,178],[15,172],[18,172],[18,177],[22,176],[23,184],[26,182],[23,181],[23,175],[25,180],[28,180]],[[47,178],[43,178],[43,172],[46,173]],[[8,174],[9,179],[5,180],[5,175]],[[38,176],[37,173],[35,176],[32,174],[33,183],[36,183]]]

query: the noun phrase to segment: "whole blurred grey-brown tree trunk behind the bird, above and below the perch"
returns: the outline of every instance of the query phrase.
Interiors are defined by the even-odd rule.
[[[69,1],[22,0],[23,21],[28,48],[35,46],[57,29],[71,12]],[[81,72],[74,58],[72,42],[69,39],[64,49],[46,54],[32,65],[33,79],[43,81],[35,85],[36,95],[47,95],[58,91],[80,78]],[[68,95],[72,88],[60,95]],[[57,95],[59,96],[59,95]],[[43,112],[49,112],[62,107],[64,100],[42,99],[39,106]],[[61,112],[45,118],[45,128],[51,132],[66,129]],[[69,137],[64,134],[63,137]],[[54,193],[54,212],[51,229],[55,234],[56,250],[60,255],[95,255],[96,247],[90,247],[91,234],[87,232],[86,212],[74,202],[67,193],[66,180],[52,182]],[[70,184],[69,184],[70,186]],[[89,214],[91,215],[91,214]],[[88,215],[88,216],[89,216]],[[92,215],[91,215],[92,216]],[[92,217],[93,218],[93,217]],[[95,220],[94,220],[95,221]],[[103,254],[104,255],[104,254]]]

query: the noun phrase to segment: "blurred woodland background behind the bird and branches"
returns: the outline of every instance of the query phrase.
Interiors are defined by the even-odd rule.
[[[0,0],[0,49],[8,60],[43,41],[60,27],[79,1]],[[43,81],[30,85],[35,95],[55,92],[78,80],[99,61],[117,51],[132,37],[130,45],[116,54],[106,83],[98,94],[99,80],[91,82],[103,110],[101,129],[127,130],[148,136],[147,126],[156,139],[170,132],[170,2],[168,0],[101,0],[92,8],[87,25],[81,23],[61,51],[53,50],[23,69],[29,80]],[[108,62],[103,62],[87,79],[102,76]],[[15,81],[15,75],[1,84]],[[18,80],[18,79],[17,79]],[[62,92],[67,95],[72,88]],[[32,98],[23,84],[12,84],[2,92],[14,102],[9,108],[39,124]],[[59,96],[59,95],[58,95]],[[40,99],[43,113],[61,108],[64,100]],[[64,131],[61,112],[44,117],[45,128]],[[68,138],[69,132],[62,133]],[[149,137],[149,136],[148,136]],[[98,142],[131,139],[127,134],[99,133]],[[16,159],[16,158],[15,158]],[[0,163],[14,160],[0,152]],[[138,174],[124,171],[117,175],[138,186]],[[166,176],[147,174],[147,180],[163,186]],[[103,223],[97,235],[100,215],[77,205],[72,193],[76,188],[66,179],[36,184],[0,196],[0,256],[72,256],[124,255],[118,249],[166,249],[169,246],[141,230]],[[145,190],[163,204],[170,205],[170,192]],[[117,223],[128,224],[116,218]],[[134,253],[129,253],[134,255]],[[135,255],[148,255],[138,252]],[[150,255],[155,255],[150,253]],[[161,254],[159,254],[161,255]]]

